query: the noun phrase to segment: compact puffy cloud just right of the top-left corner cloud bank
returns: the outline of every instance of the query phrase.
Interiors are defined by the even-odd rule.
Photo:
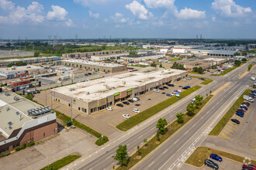
[[[47,13],[47,19],[49,20],[56,20],[56,21],[64,21],[66,20],[67,11],[61,6],[58,5],[51,5],[53,11]]]

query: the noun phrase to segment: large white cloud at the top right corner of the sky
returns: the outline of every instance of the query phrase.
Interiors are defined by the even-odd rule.
[[[214,0],[212,8],[217,14],[224,17],[243,17],[252,12],[251,8],[244,8],[237,5],[233,0]]]

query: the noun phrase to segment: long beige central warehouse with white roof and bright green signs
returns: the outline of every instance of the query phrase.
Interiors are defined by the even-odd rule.
[[[150,73],[123,73],[99,80],[59,87],[52,91],[53,100],[85,114],[150,92],[164,84],[185,77],[184,70],[161,70]]]

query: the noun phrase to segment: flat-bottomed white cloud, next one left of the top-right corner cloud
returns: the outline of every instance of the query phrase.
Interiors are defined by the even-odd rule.
[[[176,16],[178,19],[203,19],[206,17],[206,12],[185,7],[180,12],[177,12]]]

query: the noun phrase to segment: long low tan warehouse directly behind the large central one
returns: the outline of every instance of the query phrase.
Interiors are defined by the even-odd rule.
[[[104,72],[104,73],[117,73],[120,71],[125,71],[127,69],[126,65],[114,64],[114,63],[99,63],[86,61],[81,59],[67,59],[57,62],[57,65],[62,66],[72,66],[74,68],[85,69],[89,71]]]

